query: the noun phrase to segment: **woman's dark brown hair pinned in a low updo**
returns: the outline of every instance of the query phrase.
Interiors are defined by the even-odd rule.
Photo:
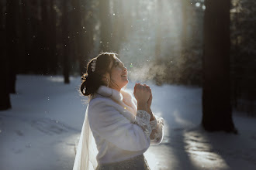
[[[81,76],[81,93],[90,96],[95,93],[100,86],[106,85],[102,78],[105,73],[111,73],[112,68],[109,65],[115,63],[116,53],[100,53],[99,56],[91,59],[87,64],[86,73]],[[92,63],[95,63],[95,70],[92,71]],[[114,64],[112,64],[114,66]]]

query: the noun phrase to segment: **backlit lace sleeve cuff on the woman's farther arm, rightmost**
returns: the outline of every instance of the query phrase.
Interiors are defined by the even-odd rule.
[[[150,121],[150,126],[152,129],[152,132],[150,134],[150,140],[154,142],[161,141],[161,138],[163,138],[163,127],[164,127],[164,119],[162,117],[154,116],[155,120]]]

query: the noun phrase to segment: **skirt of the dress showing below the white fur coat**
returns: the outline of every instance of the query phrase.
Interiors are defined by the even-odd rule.
[[[95,170],[150,170],[144,155],[127,159],[123,162],[98,165]]]

